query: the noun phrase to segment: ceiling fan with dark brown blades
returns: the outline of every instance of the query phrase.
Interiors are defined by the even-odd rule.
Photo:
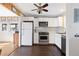
[[[32,11],[37,11],[38,14],[42,13],[42,11],[48,12],[48,10],[45,9],[45,7],[48,6],[48,3],[45,3],[44,5],[42,5],[42,3],[38,3],[38,4],[35,4],[35,3],[34,3],[33,5],[36,6],[37,9],[33,9]]]

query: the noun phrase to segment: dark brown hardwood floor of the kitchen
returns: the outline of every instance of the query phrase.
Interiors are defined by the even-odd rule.
[[[17,48],[10,56],[63,56],[54,45],[33,45]]]

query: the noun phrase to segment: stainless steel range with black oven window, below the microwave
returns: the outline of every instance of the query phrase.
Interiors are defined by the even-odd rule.
[[[48,32],[39,32],[39,43],[40,44],[49,43],[49,33]]]

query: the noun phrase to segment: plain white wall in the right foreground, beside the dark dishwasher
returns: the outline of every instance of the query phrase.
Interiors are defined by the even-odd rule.
[[[67,55],[79,56],[79,38],[75,38],[76,33],[79,34],[79,23],[74,23],[74,8],[79,8],[79,4],[67,4],[66,12],[66,53]]]

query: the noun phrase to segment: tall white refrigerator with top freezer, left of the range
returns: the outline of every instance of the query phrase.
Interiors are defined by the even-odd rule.
[[[22,41],[21,45],[32,45],[33,22],[22,22]]]

